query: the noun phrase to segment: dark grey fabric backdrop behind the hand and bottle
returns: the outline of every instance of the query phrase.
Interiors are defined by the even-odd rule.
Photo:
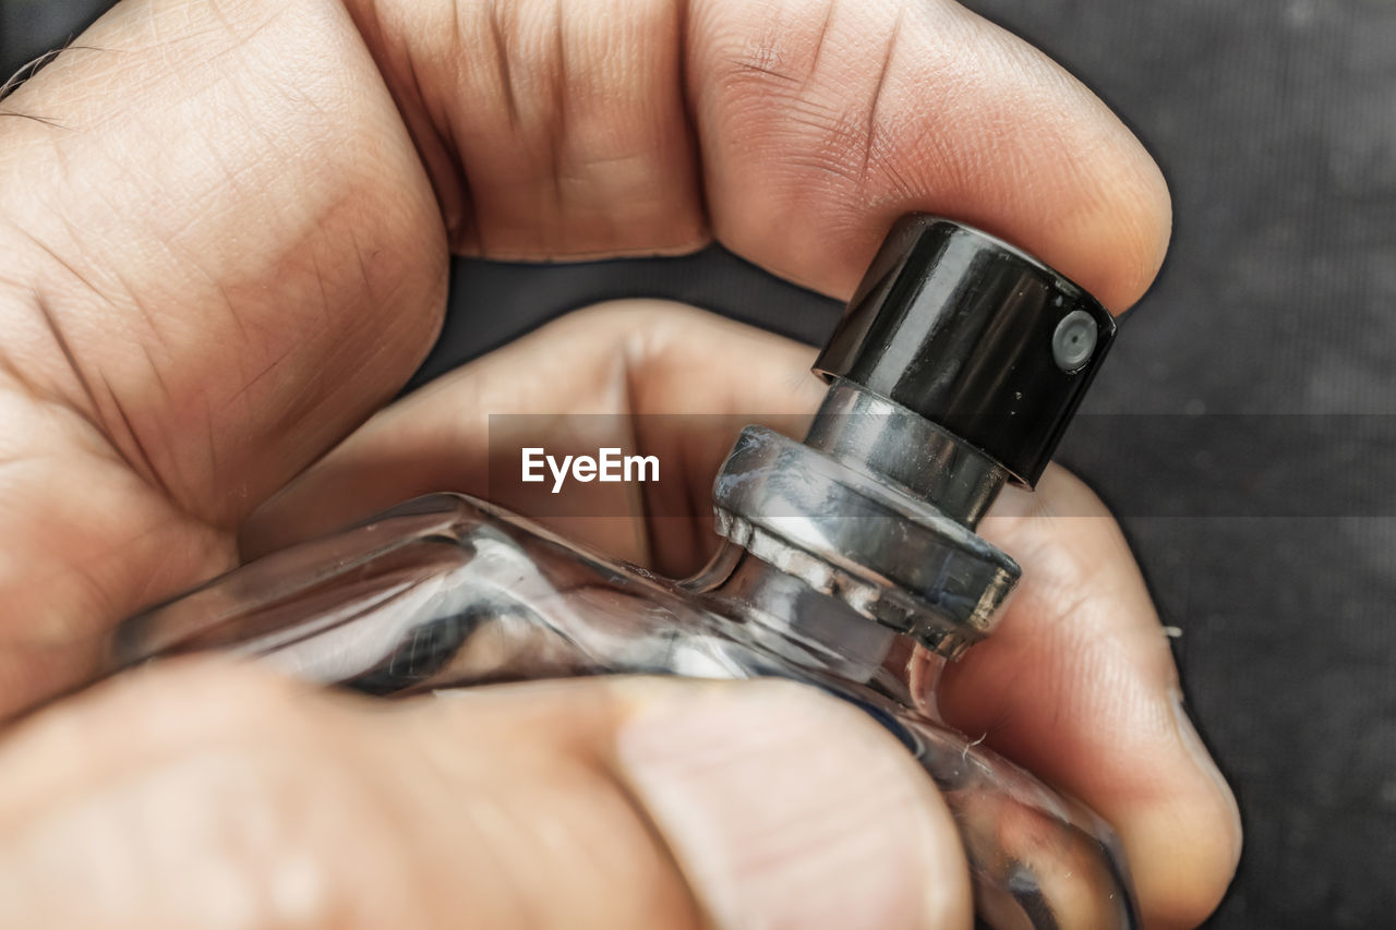
[[[0,66],[64,42],[102,6],[0,0]],[[969,6],[1093,87],[1173,189],[1168,263],[1060,458],[1117,508],[1164,621],[1182,630],[1194,715],[1240,795],[1245,855],[1210,926],[1393,926],[1396,3]],[[839,311],[719,250],[459,261],[419,380],[627,295],[810,342]]]

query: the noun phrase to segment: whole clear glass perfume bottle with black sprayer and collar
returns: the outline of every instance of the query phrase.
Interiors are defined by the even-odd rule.
[[[1041,475],[1113,337],[1057,272],[912,215],[815,363],[829,390],[804,441],[741,433],[698,575],[433,494],[127,620],[107,665],[226,649],[376,695],[607,673],[804,681],[866,709],[940,786],[981,923],[1134,927],[1110,828],[934,701],[940,665],[991,631],[1019,577],[974,526],[1007,483]]]

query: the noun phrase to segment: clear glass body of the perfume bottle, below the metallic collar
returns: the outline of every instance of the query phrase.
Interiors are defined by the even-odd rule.
[[[133,617],[109,663],[202,649],[377,695],[588,674],[803,681],[867,711],[935,781],[983,922],[1138,923],[1108,827],[935,719],[940,659],[730,542],[674,582],[434,494]]]

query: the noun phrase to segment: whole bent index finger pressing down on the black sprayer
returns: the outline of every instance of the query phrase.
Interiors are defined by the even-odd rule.
[[[948,0],[350,8],[469,251],[671,251],[711,223],[847,296],[919,208],[1026,246],[1117,309],[1163,258],[1168,197],[1138,141]]]

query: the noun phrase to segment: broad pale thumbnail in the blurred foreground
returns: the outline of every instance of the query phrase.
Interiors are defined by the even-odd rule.
[[[967,923],[944,803],[852,707],[792,684],[690,687],[623,726],[618,757],[720,927]]]

